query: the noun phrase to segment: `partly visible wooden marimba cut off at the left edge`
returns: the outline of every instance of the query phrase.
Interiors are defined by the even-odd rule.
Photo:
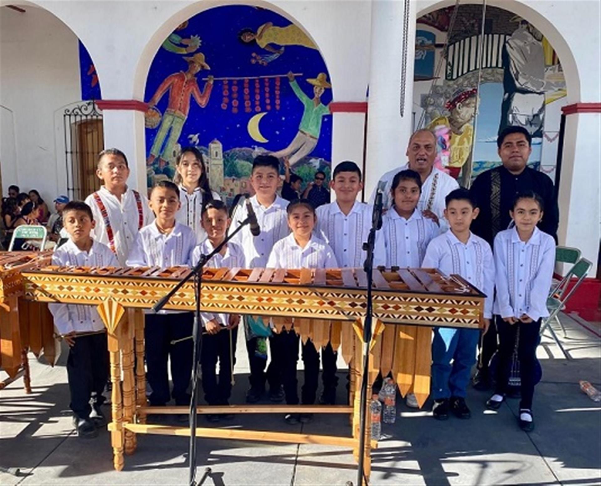
[[[22,300],[23,270],[50,263],[50,252],[0,252],[0,365],[8,379],[0,389],[23,374],[25,393],[31,393],[27,351],[42,350],[51,364],[55,358],[52,315],[47,306]]]

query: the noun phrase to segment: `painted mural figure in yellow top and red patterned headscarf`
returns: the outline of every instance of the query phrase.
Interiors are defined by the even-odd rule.
[[[461,168],[472,153],[474,127],[470,122],[474,118],[477,93],[476,88],[456,91],[445,105],[449,115],[436,118],[428,126],[437,136],[441,129],[448,130],[450,154],[447,169],[453,178],[459,177]]]

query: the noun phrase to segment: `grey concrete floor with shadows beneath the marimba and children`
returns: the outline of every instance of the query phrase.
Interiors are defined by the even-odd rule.
[[[517,400],[489,412],[484,410],[489,393],[471,388],[469,421],[436,422],[430,402],[422,411],[399,404],[396,423],[384,426],[387,438],[373,452],[371,484],[601,484],[601,403],[578,386],[585,379],[601,389],[601,326],[561,318],[567,327],[561,339],[573,359],[566,360],[551,339],[543,338],[534,432],[517,428]],[[245,354],[240,341],[234,403],[243,402],[248,383]],[[136,453],[126,456],[123,471],[115,472],[108,432],[94,440],[74,435],[65,360],[66,353],[50,368],[31,356],[32,395],[23,393],[22,380],[0,393],[0,464],[20,469],[19,476],[0,472],[0,484],[188,484],[185,437],[139,435]],[[343,392],[339,387],[339,402]],[[203,419],[200,424],[206,426]],[[294,427],[278,415],[247,415],[219,426],[350,434],[342,415],[315,416],[311,424]],[[356,484],[351,451],[332,446],[198,440],[198,466],[199,481],[206,466],[213,470],[204,485]]]

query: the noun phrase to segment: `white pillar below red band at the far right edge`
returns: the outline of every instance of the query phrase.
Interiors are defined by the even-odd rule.
[[[560,245],[580,249],[597,273],[601,239],[601,113],[574,113],[566,117],[564,157],[559,190]]]

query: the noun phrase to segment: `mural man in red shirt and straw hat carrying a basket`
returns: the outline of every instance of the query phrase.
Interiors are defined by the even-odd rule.
[[[150,155],[146,160],[147,165],[153,165],[156,159],[159,159],[155,172],[162,172],[168,166],[169,160],[173,158],[173,148],[180,138],[184,123],[188,118],[191,97],[194,97],[198,106],[204,108],[209,103],[209,96],[213,89],[213,76],[208,77],[202,93],[198,88],[196,74],[203,69],[210,69],[209,64],[204,61],[204,54],[197,52],[194,56],[183,59],[188,61],[188,70],[167,76],[148,102],[150,109],[147,112],[147,118],[152,115],[153,111],[156,116],[154,105],[159,103],[163,94],[169,91],[169,104],[160,122],[159,132],[154,137]],[[169,134],[169,138],[167,138],[167,134]],[[165,138],[167,138],[167,142],[163,147]],[[173,174],[167,175],[171,177]]]

